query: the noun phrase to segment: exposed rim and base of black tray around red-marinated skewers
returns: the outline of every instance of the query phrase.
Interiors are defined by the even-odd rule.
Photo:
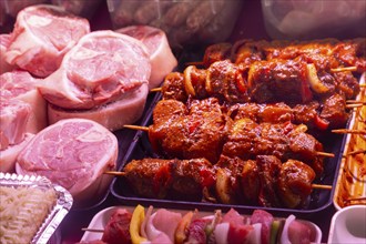
[[[161,99],[160,94],[156,94],[154,101],[152,102],[148,113],[141,122],[141,125],[149,126],[152,123],[152,112],[156,102]],[[347,124],[348,128],[348,124]],[[324,160],[324,176],[314,182],[316,184],[332,185],[332,190],[314,190],[309,196],[308,204],[305,209],[282,209],[282,207],[263,207],[257,205],[232,205],[232,204],[221,204],[221,203],[207,203],[207,202],[189,202],[180,200],[159,200],[159,199],[145,199],[138,196],[133,193],[132,189],[129,187],[128,182],[124,177],[116,176],[113,179],[111,184],[112,195],[121,202],[123,205],[154,205],[156,207],[170,207],[170,209],[183,209],[192,210],[199,209],[203,211],[213,211],[221,209],[223,211],[228,211],[234,207],[236,211],[245,214],[251,214],[256,209],[262,209],[276,213],[279,216],[285,216],[288,214],[296,214],[304,218],[309,217],[314,213],[317,213],[331,204],[333,204],[334,190],[337,183],[337,175],[339,171],[339,165],[342,161],[342,154],[346,143],[346,135],[329,134],[328,138],[323,141],[324,151],[334,153],[335,157],[328,157]],[[119,171],[122,171],[124,165],[126,165],[132,160],[141,160],[143,157],[159,157],[154,154],[151,144],[149,142],[148,132],[138,131],[134,134],[132,143],[125,153],[125,157],[122,160]]]

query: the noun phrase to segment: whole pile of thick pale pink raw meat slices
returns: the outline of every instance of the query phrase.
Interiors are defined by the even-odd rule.
[[[21,10],[0,43],[0,171],[48,176],[74,196],[115,166],[112,132],[141,118],[177,64],[160,29],[91,32],[48,4]]]

